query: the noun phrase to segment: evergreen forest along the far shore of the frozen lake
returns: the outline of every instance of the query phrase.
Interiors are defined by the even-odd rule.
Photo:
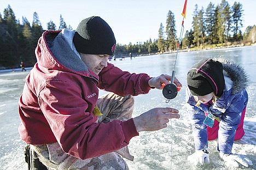
[[[256,41],[256,26],[243,27],[243,7],[240,2],[229,4],[222,0],[220,4],[209,3],[204,9],[197,5],[193,11],[192,27],[184,32],[180,50],[201,50],[230,45],[251,45]],[[60,14],[59,27],[53,21],[47,23],[47,30],[73,29],[67,25]],[[19,68],[20,62],[26,67],[36,63],[34,50],[43,29],[39,16],[33,13],[30,23],[26,17],[16,19],[10,5],[0,13],[0,69]],[[168,11],[166,23],[160,23],[158,39],[149,39],[136,44],[117,44],[115,57],[167,53],[177,50],[179,43],[176,31],[176,20],[171,10]]]

